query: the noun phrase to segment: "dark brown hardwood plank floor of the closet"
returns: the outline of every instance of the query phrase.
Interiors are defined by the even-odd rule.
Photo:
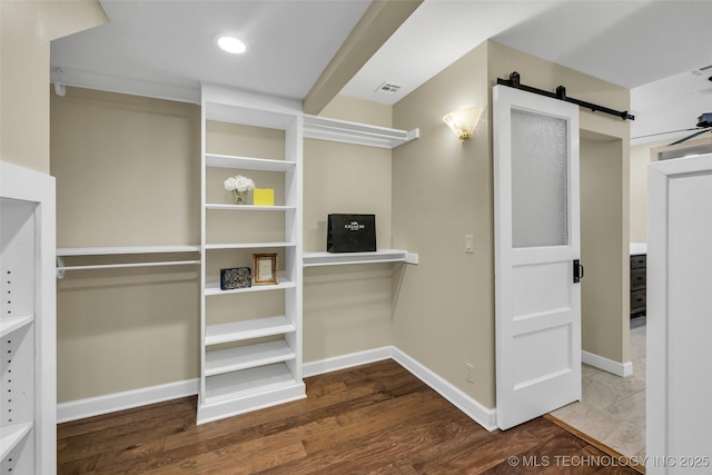
[[[196,398],[58,425],[58,474],[635,474],[545,418],[487,432],[393,360],[195,425]]]

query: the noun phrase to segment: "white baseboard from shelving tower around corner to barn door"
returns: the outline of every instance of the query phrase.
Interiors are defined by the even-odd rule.
[[[494,431],[497,428],[495,409],[486,408],[476,399],[466,395],[394,346],[352,353],[319,362],[305,363],[304,376],[316,376],[384,359],[393,359],[398,363],[485,429]]]

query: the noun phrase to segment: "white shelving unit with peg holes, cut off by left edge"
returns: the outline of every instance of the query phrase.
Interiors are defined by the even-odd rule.
[[[55,178],[0,161],[0,473],[57,472]]]

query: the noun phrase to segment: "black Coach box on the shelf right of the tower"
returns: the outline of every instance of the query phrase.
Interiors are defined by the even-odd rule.
[[[327,253],[376,250],[376,215],[329,215]]]

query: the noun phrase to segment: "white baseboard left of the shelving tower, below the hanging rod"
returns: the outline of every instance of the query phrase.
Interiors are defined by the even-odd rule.
[[[57,423],[82,419],[147,404],[161,403],[198,394],[199,379],[187,379],[160,386],[142,387],[106,396],[88,397],[57,405]]]

